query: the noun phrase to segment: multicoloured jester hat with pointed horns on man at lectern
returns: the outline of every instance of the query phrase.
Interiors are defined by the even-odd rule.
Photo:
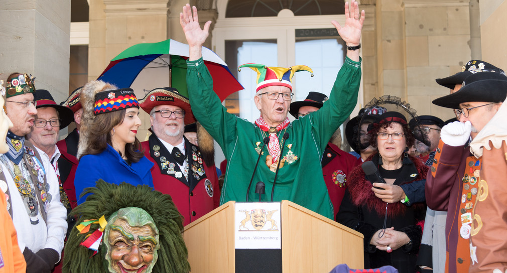
[[[238,67],[238,71],[241,71],[241,67],[250,67],[253,71],[257,72],[257,89],[259,90],[268,86],[285,86],[291,89],[292,92],[292,77],[294,73],[305,70],[312,73],[313,70],[306,65],[294,65],[288,68],[285,67],[268,67],[264,64],[257,63],[245,63]]]

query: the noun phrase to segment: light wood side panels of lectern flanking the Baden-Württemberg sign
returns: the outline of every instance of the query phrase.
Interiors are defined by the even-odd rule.
[[[227,202],[185,226],[193,273],[236,272],[241,266],[236,264],[235,206]],[[281,272],[329,272],[341,263],[364,267],[363,235],[320,214],[284,200],[280,229]]]

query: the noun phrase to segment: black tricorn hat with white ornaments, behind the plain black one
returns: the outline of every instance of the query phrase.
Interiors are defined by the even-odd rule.
[[[452,76],[445,77],[443,79],[436,79],[437,84],[454,89],[456,85],[460,85],[466,79],[467,76],[478,73],[478,72],[498,72],[505,74],[502,69],[481,60],[471,60],[461,67],[461,72],[458,72]]]

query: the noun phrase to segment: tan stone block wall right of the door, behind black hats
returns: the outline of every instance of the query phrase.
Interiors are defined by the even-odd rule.
[[[460,71],[470,59],[468,1],[378,0],[375,5],[376,95],[401,97],[418,114],[452,118],[451,111],[431,101],[449,93],[435,79]],[[365,83],[373,82],[366,77]],[[365,85],[365,103],[366,92]]]

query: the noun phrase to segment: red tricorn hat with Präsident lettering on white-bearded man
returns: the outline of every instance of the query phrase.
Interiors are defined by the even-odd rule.
[[[189,99],[180,95],[178,90],[172,87],[155,88],[139,101],[139,105],[148,114],[155,106],[174,105],[185,111],[185,125],[196,122]]]

